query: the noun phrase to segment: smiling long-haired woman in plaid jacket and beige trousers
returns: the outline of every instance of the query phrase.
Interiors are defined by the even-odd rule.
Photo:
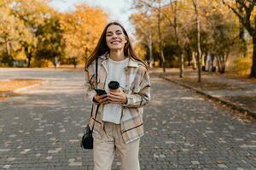
[[[119,82],[122,90],[109,91],[110,81]],[[107,94],[98,95],[95,88],[105,89]],[[119,152],[122,169],[140,169],[138,152],[143,136],[143,106],[150,99],[150,82],[147,66],[137,58],[127,32],[117,22],[105,27],[86,62],[85,89],[94,102],[89,121],[90,127],[95,122],[94,169],[111,169],[114,150]]]

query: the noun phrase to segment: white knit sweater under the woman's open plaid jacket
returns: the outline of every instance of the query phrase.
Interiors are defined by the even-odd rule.
[[[111,81],[119,82],[121,87],[125,87],[125,66],[128,65],[129,59],[126,58],[121,61],[114,61],[108,58],[108,77],[106,81],[105,90],[109,93],[108,83]],[[122,116],[122,105],[107,104],[104,105],[102,111],[102,120],[104,122],[120,123]]]

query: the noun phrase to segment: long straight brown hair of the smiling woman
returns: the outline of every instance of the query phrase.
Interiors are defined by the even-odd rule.
[[[85,68],[87,68],[91,64],[91,62],[94,59],[96,59],[97,57],[101,56],[102,54],[105,54],[106,52],[109,53],[109,48],[108,48],[108,45],[107,45],[107,42],[106,42],[106,34],[107,34],[108,26],[112,26],[112,25],[120,26],[122,28],[122,31],[125,34],[125,38],[127,40],[127,42],[125,43],[125,47],[124,47],[125,56],[131,57],[131,58],[133,58],[137,61],[141,61],[143,63],[143,65],[145,65],[145,67],[147,68],[147,65],[143,62],[142,59],[139,59],[137,57],[137,54],[135,53],[135,51],[131,47],[131,41],[130,41],[130,38],[128,37],[127,32],[125,31],[125,28],[123,26],[121,26],[116,21],[108,23],[108,25],[104,28],[104,30],[102,32],[102,36],[100,37],[99,42],[96,45],[96,48],[94,49],[92,54],[90,54],[89,58],[86,59]]]

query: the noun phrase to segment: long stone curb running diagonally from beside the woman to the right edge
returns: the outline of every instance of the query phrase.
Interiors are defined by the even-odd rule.
[[[160,75],[159,77],[165,79],[166,81],[176,83],[177,85],[182,86],[182,87],[184,87],[184,88],[189,88],[189,89],[195,91],[197,94],[205,95],[205,96],[207,96],[207,98],[209,98],[209,99],[213,99],[213,100],[216,100],[216,101],[221,102],[221,103],[224,104],[224,105],[228,105],[228,106],[230,106],[233,110],[236,110],[236,111],[243,111],[243,112],[245,112],[245,114],[247,114],[247,115],[249,115],[249,116],[253,116],[253,118],[256,118],[256,112],[255,112],[255,111],[251,111],[251,110],[249,110],[249,109],[247,109],[247,108],[245,108],[245,107],[238,106],[238,105],[236,105],[236,104],[234,104],[234,103],[231,103],[231,102],[228,101],[228,100],[220,99],[220,98],[214,97],[214,96],[212,96],[212,95],[210,95],[210,94],[207,94],[206,92],[202,91],[201,89],[193,88],[193,87],[191,87],[191,86],[189,86],[189,85],[187,85],[187,84],[184,84],[184,83],[182,83],[182,82],[177,82],[177,81],[171,80],[170,78],[167,78],[167,77],[165,77],[165,76],[163,76],[163,75]]]

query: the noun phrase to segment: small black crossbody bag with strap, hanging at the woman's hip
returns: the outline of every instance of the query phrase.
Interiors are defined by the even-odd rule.
[[[98,59],[96,58],[96,84],[97,84],[97,82],[98,82]],[[96,107],[96,116],[98,113],[98,109],[99,109],[99,105],[97,105],[97,107]],[[90,117],[92,116],[92,111],[93,111],[93,104],[91,106]],[[96,119],[96,116],[95,116],[95,119]],[[84,129],[84,135],[81,140],[81,144],[80,144],[81,147],[84,149],[87,149],[87,150],[93,149],[92,133],[93,133],[93,129],[94,129],[94,123],[95,123],[95,120],[93,122],[91,129],[90,129],[89,124],[87,124],[87,126]]]

